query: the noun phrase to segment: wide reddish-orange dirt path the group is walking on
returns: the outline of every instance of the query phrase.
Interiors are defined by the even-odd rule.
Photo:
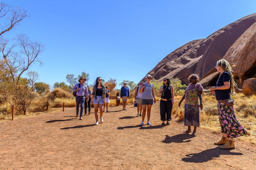
[[[75,119],[75,108],[0,122],[0,169],[255,169],[256,147],[239,139],[235,150],[213,145],[219,136],[181,124],[161,126],[159,102],[152,126],[140,126],[137,110],[110,107],[103,123],[94,114]],[[61,109],[59,109],[61,110]],[[92,112],[94,110],[92,109]]]

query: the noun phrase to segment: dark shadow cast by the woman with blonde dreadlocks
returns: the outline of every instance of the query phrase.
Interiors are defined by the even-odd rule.
[[[190,153],[187,154],[186,158],[181,160],[184,162],[195,162],[202,163],[212,160],[213,158],[218,158],[220,155],[243,155],[242,153],[230,152],[230,150],[221,150],[219,147],[213,149],[207,149],[200,153]]]

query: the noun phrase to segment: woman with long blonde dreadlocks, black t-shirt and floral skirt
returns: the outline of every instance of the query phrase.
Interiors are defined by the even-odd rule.
[[[218,100],[219,122],[221,126],[222,138],[215,142],[219,149],[235,149],[233,138],[248,134],[245,128],[235,117],[234,107],[226,106],[223,100],[231,99],[230,93],[235,92],[236,83],[233,78],[232,69],[226,60],[217,61],[215,66],[219,72],[219,79],[216,87],[211,87],[210,91],[215,91],[216,100]]]

